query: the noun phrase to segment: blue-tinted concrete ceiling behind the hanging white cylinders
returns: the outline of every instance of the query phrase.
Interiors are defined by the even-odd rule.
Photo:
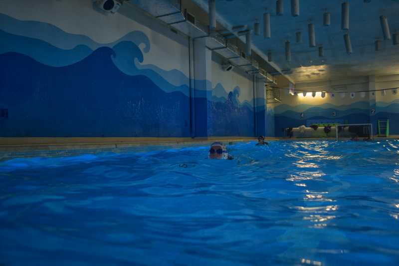
[[[193,0],[207,6],[207,0]],[[350,29],[341,29],[343,0],[300,0],[300,15],[291,15],[291,0],[284,0],[284,15],[276,15],[276,0],[216,0],[219,19],[231,26],[253,28],[255,19],[261,24],[261,35],[253,35],[253,48],[273,54],[273,63],[287,70],[294,82],[331,80],[352,76],[399,73],[399,45],[384,40],[380,15],[389,20],[391,34],[399,33],[398,0],[349,0]],[[263,13],[271,13],[271,38],[263,38]],[[323,13],[331,13],[331,25],[323,26]],[[316,47],[309,47],[308,23],[315,24]],[[302,43],[295,42],[295,32],[302,31]],[[349,32],[353,53],[347,54],[343,35]],[[375,51],[375,40],[382,40],[382,49]],[[285,59],[285,41],[291,42],[291,61]],[[323,45],[324,57],[318,46]]]

